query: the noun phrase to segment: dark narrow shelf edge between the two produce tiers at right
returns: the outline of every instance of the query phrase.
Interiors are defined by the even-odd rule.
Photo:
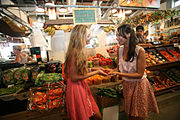
[[[180,66],[180,61],[175,61],[175,62],[169,62],[169,63],[163,63],[163,64],[158,64],[158,65],[153,65],[153,66],[148,66],[146,67],[147,70],[159,70],[159,69],[164,69],[168,67],[175,67],[175,66]]]

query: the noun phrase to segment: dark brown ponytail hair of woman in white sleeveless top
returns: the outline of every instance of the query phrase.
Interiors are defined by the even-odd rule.
[[[126,61],[132,62],[134,60],[134,57],[137,55],[135,52],[135,48],[137,45],[137,43],[136,43],[137,38],[136,38],[135,32],[131,28],[131,26],[128,24],[121,25],[120,27],[118,27],[117,30],[118,30],[119,36],[122,36],[125,39],[127,39],[125,33],[126,34],[130,33],[129,50],[128,50]]]

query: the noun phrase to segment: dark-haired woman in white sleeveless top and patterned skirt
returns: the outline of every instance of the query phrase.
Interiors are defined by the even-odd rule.
[[[159,113],[153,89],[146,78],[145,51],[136,43],[136,35],[130,25],[118,27],[116,39],[118,51],[118,71],[123,79],[125,111],[130,119],[145,119],[148,112]]]

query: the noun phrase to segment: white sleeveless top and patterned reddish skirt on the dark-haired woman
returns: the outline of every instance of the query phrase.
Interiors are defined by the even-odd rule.
[[[136,45],[137,56],[140,48],[142,47]],[[133,62],[126,62],[123,60],[123,49],[124,46],[119,49],[119,70],[122,73],[136,73],[137,56]],[[146,76],[144,73],[141,79],[122,77],[125,111],[130,116],[147,117],[148,112],[159,113],[152,86]]]

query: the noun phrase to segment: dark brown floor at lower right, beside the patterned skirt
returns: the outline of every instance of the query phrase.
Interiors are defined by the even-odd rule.
[[[160,114],[150,114],[146,120],[180,120],[180,90],[156,97]],[[128,120],[125,112],[120,113],[119,120]]]

